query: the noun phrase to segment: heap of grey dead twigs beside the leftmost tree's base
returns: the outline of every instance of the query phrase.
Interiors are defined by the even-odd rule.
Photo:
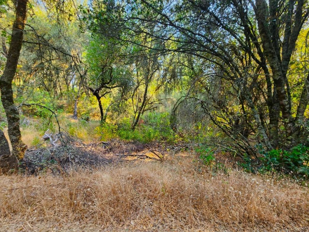
[[[95,167],[113,162],[113,157],[102,146],[84,144],[66,133],[47,135],[45,137],[49,139],[48,143],[26,151],[21,167],[28,173],[33,174],[45,169],[56,173],[67,172],[77,167]]]

